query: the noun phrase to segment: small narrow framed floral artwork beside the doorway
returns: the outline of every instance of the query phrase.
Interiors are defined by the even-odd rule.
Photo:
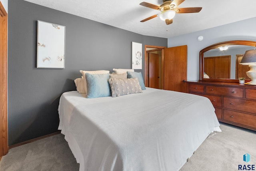
[[[132,69],[142,70],[142,44],[132,42]]]

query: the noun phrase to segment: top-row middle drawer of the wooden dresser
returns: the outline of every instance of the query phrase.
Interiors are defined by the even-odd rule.
[[[218,87],[218,86],[212,86],[212,85],[206,85],[206,93],[231,96],[231,97],[240,97],[240,98],[242,98],[244,95],[242,88]]]

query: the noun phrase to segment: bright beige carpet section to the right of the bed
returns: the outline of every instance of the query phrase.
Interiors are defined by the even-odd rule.
[[[256,131],[220,124],[222,132],[208,137],[180,171],[238,171],[238,165],[256,165]]]

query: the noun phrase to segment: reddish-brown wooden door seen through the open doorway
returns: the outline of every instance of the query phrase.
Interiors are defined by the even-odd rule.
[[[148,87],[159,89],[159,54],[148,53]]]

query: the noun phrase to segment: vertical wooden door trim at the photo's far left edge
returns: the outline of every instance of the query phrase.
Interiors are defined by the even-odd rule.
[[[7,12],[0,2],[0,157],[8,152],[7,127]]]

